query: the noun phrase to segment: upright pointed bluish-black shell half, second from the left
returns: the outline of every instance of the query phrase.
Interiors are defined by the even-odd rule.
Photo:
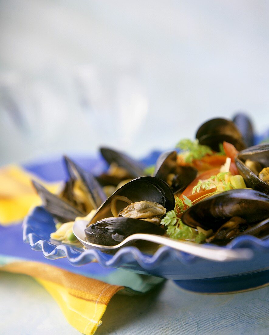
[[[91,173],[83,170],[69,157],[64,156],[64,162],[71,180],[75,181],[76,179],[80,179],[82,181],[86,190],[89,192],[93,208],[97,209],[107,199],[101,185]],[[72,182],[70,183],[72,184]],[[69,186],[69,197],[72,197],[70,193],[72,193],[72,191],[70,191]]]

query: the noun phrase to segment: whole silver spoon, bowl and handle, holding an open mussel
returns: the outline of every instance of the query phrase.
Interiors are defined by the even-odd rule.
[[[209,259],[211,261],[217,261],[217,262],[249,260],[253,257],[253,251],[247,248],[227,249],[218,246],[199,245],[191,242],[173,240],[165,236],[143,234],[143,233],[130,235],[121,243],[115,246],[103,246],[100,244],[90,243],[86,240],[85,229],[87,227],[87,223],[88,221],[86,220],[78,220],[75,221],[73,226],[74,235],[87,249],[95,248],[95,249],[101,249],[103,251],[117,250],[124,247],[130,242],[143,240],[153,242],[156,244],[161,244],[179,251],[183,251],[190,255],[198,256],[204,259]]]

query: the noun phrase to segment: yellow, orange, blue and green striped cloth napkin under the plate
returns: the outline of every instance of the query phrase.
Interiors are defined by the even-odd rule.
[[[103,269],[97,263],[72,267],[65,258],[47,260],[32,251],[22,242],[20,222],[30,207],[40,204],[31,179],[31,174],[16,165],[0,169],[0,270],[35,278],[56,300],[74,328],[83,334],[94,334],[115,293],[145,293],[163,279]],[[59,186],[43,184],[52,192]]]

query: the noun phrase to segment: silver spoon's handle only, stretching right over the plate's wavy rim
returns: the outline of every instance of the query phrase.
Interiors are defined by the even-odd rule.
[[[249,260],[253,257],[253,251],[248,248],[227,249],[218,246],[200,245],[192,242],[173,240],[165,236],[153,234],[133,234],[128,236],[124,240],[124,243],[134,240],[144,240],[148,242],[162,244],[164,246],[171,247],[173,249],[183,251],[194,256],[218,262]]]

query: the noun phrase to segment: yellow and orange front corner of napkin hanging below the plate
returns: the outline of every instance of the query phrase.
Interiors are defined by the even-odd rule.
[[[87,335],[95,333],[110,299],[124,288],[38,262],[12,262],[0,270],[34,277],[56,300],[66,320]]]

